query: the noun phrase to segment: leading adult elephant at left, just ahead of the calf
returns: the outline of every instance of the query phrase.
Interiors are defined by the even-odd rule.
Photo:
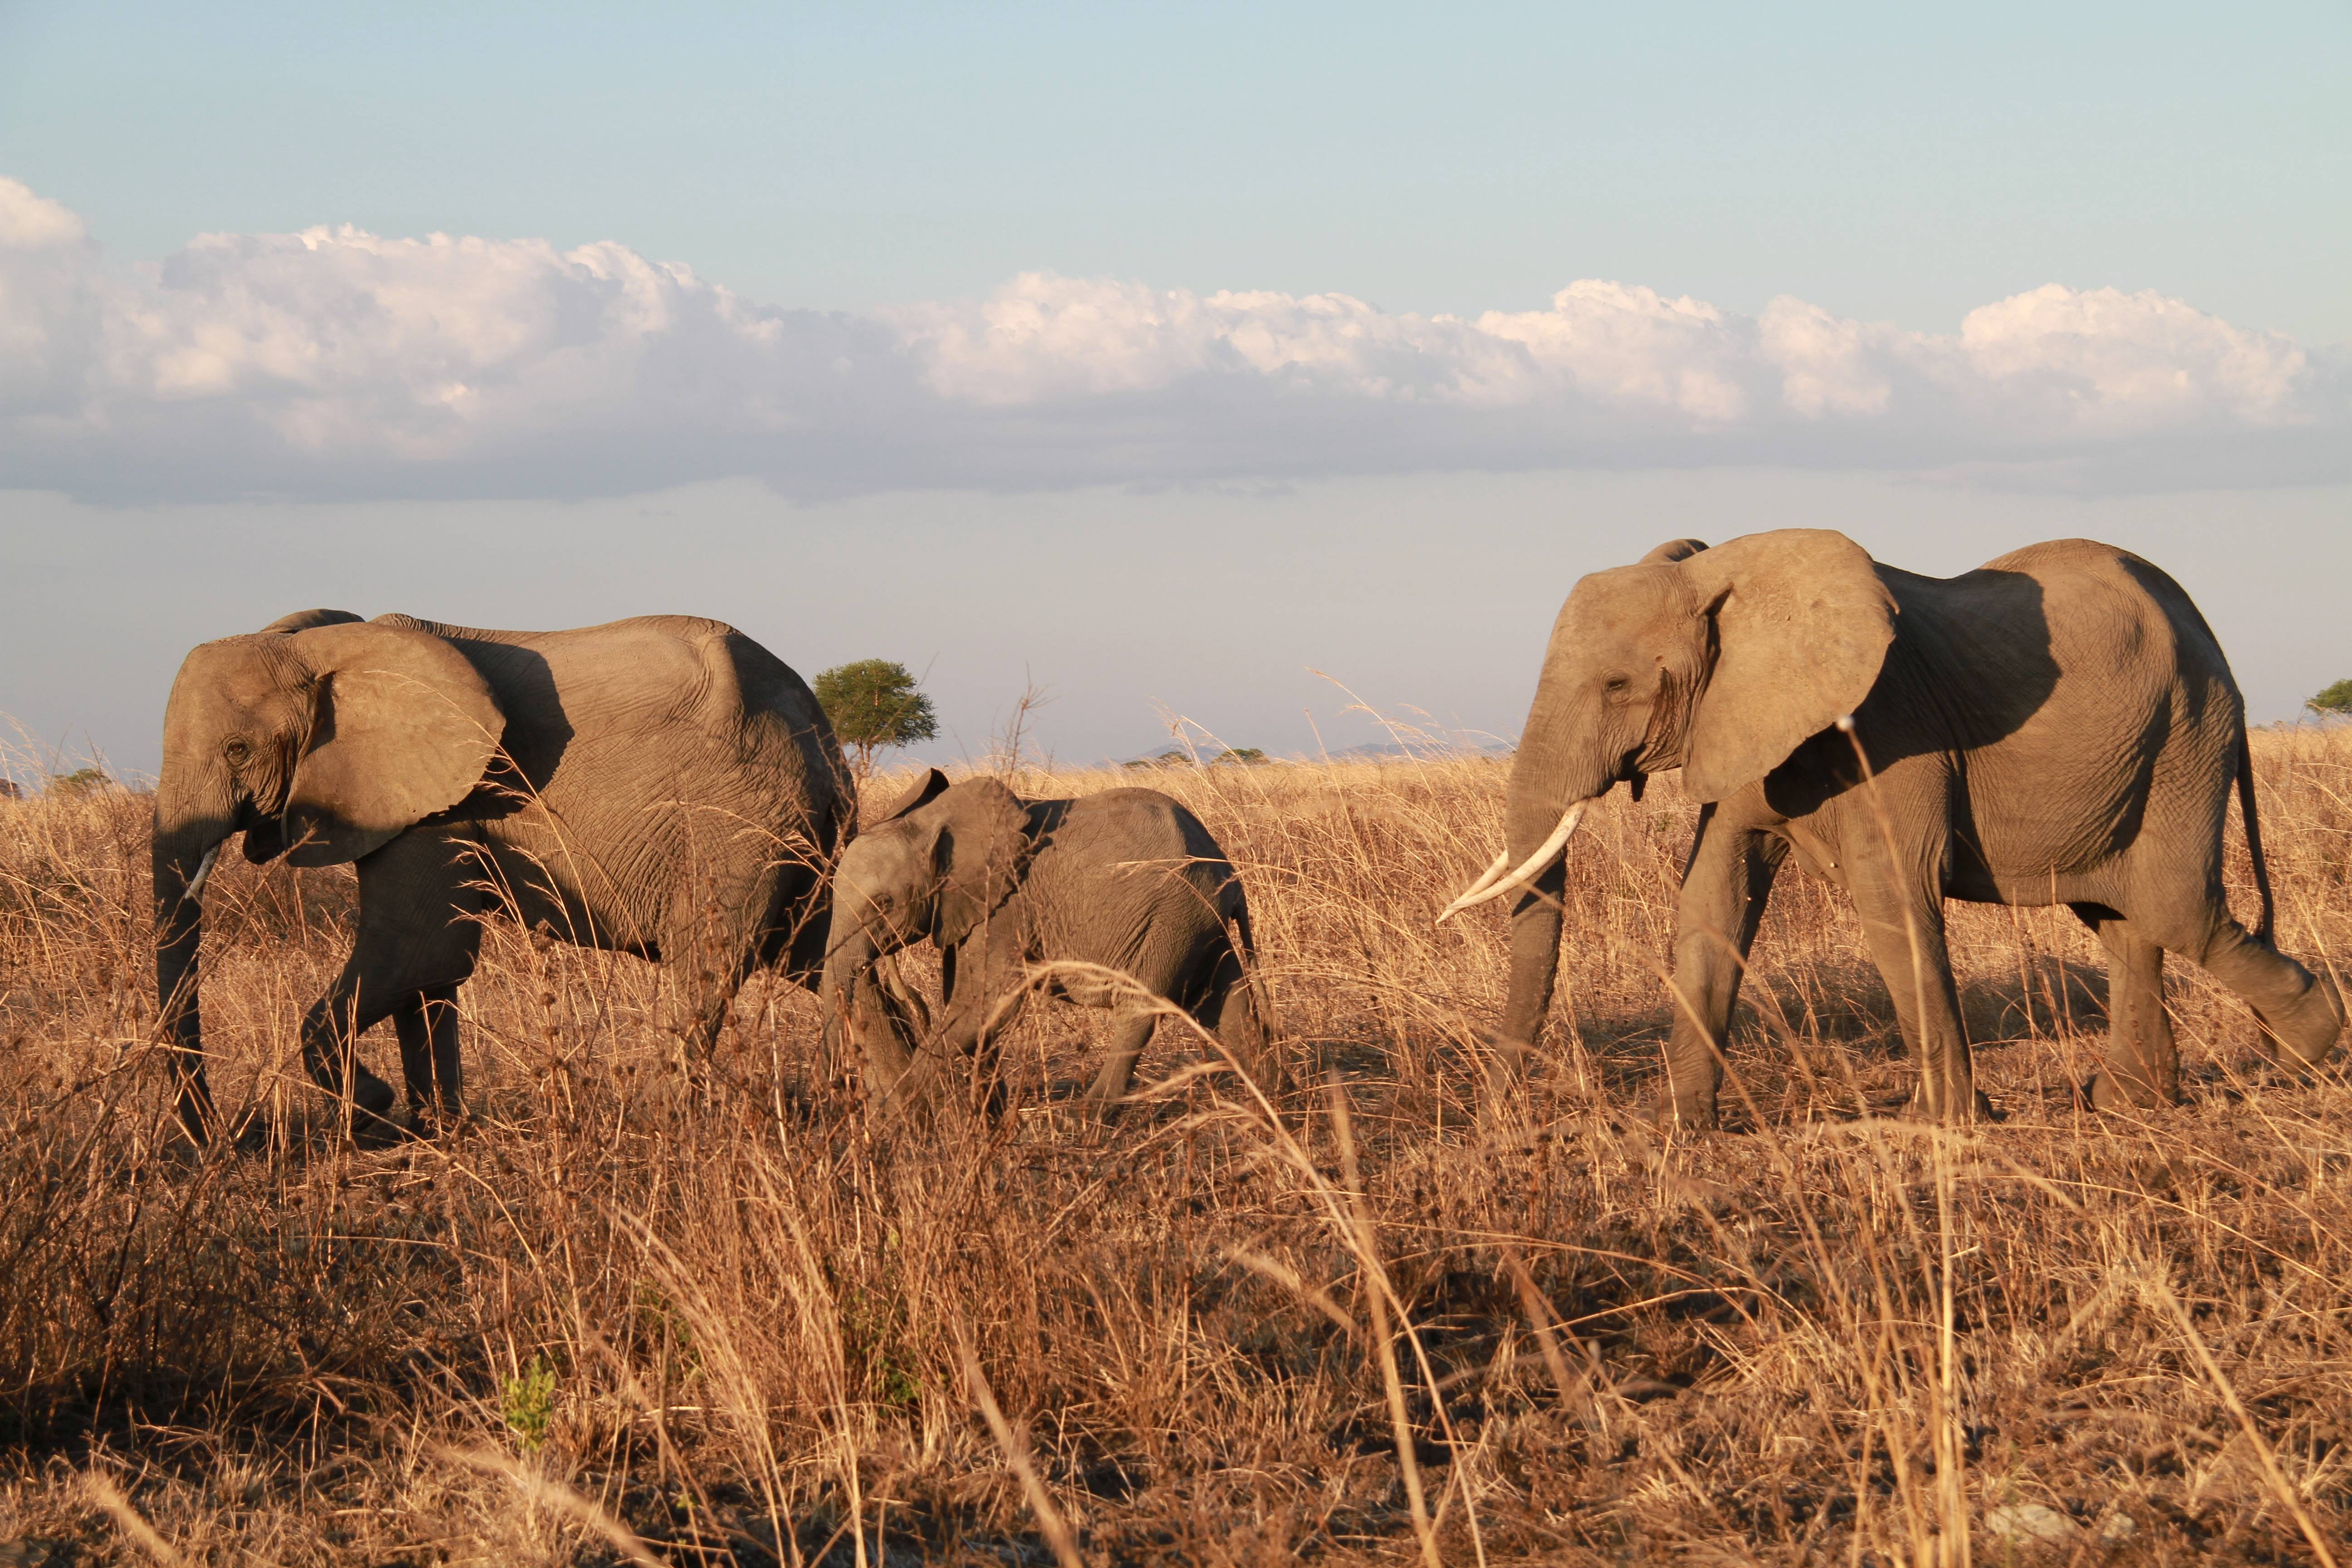
[[[358,936],[301,1023],[362,1126],[393,1088],[355,1039],[393,1018],[412,1110],[456,1112],[456,987],[485,914],[666,959],[708,1046],[753,964],[814,976],[856,795],[790,668],[717,621],[485,632],[301,611],[188,654],[155,788],[155,990],[181,1121],[212,1121],[198,1006],[221,844],[355,863]]]

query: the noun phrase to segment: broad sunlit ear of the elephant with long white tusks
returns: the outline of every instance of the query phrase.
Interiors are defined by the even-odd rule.
[[[1724,799],[1860,708],[1896,637],[1896,602],[1870,555],[1832,529],[1748,534],[1677,569],[1715,621],[1682,788]]]

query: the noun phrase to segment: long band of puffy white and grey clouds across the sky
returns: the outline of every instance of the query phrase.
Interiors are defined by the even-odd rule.
[[[1581,280],[1543,310],[1025,273],[873,315],[621,244],[202,235],[106,261],[0,179],[0,484],[89,501],[790,496],[1783,463],[1976,484],[2352,480],[2352,353],[2049,284],[1957,334]]]

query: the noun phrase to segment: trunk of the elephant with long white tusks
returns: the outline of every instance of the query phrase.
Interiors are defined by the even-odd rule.
[[[1510,910],[1510,992],[1498,1027],[1512,1065],[1536,1044],[1552,1011],[1569,835],[1585,806],[1616,783],[1613,769],[1597,757],[1599,745],[1578,743],[1548,698],[1548,691],[1536,693],[1536,712],[1510,766],[1505,860],[1519,870],[1479,893],[1479,900],[1519,893]]]

